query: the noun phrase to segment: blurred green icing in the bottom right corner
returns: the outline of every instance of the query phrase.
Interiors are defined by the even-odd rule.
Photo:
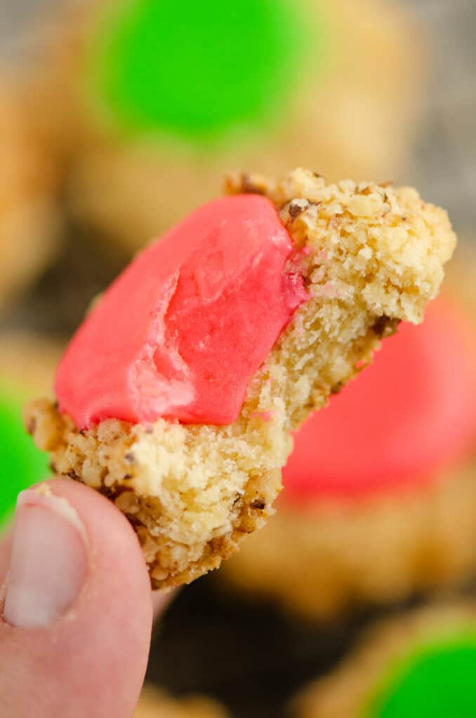
[[[476,717],[476,625],[392,666],[362,718]]]

